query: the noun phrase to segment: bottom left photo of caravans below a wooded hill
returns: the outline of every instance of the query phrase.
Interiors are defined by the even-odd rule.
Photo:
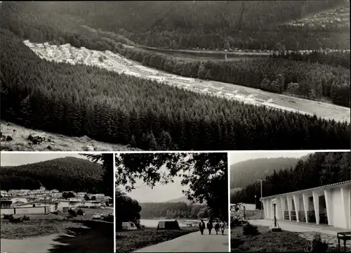
[[[113,156],[1,152],[1,253],[114,252]]]

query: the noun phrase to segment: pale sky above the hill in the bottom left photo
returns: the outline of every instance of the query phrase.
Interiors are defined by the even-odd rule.
[[[1,166],[31,164],[34,162],[43,162],[62,157],[77,157],[86,159],[86,157],[83,155],[78,155],[77,153],[1,153]]]

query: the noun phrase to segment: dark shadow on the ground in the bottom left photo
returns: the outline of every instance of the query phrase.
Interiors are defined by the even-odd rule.
[[[114,223],[103,221],[74,221],[87,228],[68,228],[67,235],[54,241],[50,253],[114,252]]]

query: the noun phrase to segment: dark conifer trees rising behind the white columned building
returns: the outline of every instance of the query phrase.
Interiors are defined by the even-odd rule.
[[[263,181],[263,196],[290,193],[350,180],[350,152],[314,153],[295,167],[274,171]],[[289,183],[288,183],[289,182]],[[253,183],[230,195],[231,203],[255,203],[260,183]]]

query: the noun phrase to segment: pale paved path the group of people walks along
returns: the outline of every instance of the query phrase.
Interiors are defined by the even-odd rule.
[[[211,235],[208,235],[208,230],[204,235],[201,235],[200,231],[189,233],[135,252],[230,252],[227,229],[224,235],[216,235],[216,231],[213,234],[213,231]]]

